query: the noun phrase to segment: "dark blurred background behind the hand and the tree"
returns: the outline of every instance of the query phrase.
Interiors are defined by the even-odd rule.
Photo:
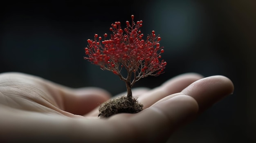
[[[83,59],[87,39],[110,34],[115,21],[143,20],[160,34],[164,74],[134,87],[154,88],[182,73],[224,75],[234,94],[171,136],[171,143],[254,142],[256,133],[255,0],[37,0],[1,4],[0,73],[16,71],[112,95],[126,90],[116,75]]]

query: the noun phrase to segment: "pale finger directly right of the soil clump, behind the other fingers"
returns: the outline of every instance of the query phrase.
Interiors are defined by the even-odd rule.
[[[158,100],[168,95],[181,92],[191,83],[202,78],[202,75],[198,75],[195,73],[186,73],[173,77],[172,79],[169,79],[164,84],[162,84],[162,86],[154,88],[153,90],[150,90],[149,92],[146,92],[145,94],[139,96],[138,101],[143,104],[143,108],[146,109]]]

